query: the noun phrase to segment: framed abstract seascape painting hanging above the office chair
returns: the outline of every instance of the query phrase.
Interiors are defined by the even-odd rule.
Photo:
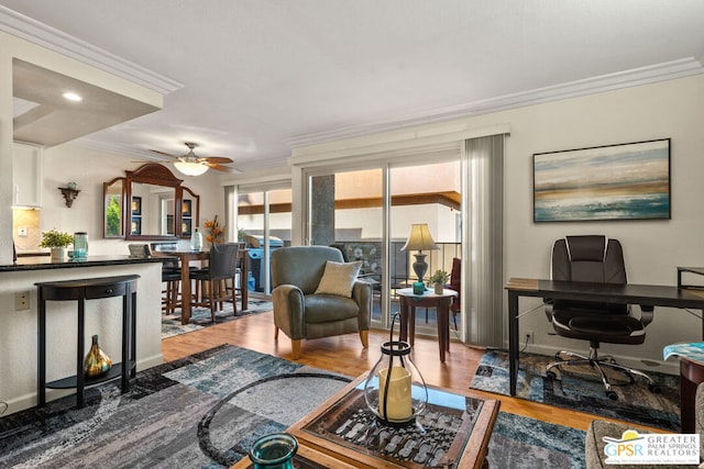
[[[671,216],[670,138],[536,153],[534,222]]]

